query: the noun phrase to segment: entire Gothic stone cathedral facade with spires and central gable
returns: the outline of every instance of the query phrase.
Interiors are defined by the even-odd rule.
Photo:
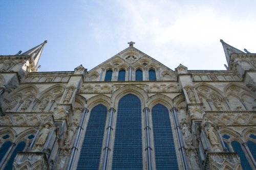
[[[1,170],[256,168],[256,54],[221,40],[226,70],[173,70],[129,42],[38,72],[46,43],[0,56]]]

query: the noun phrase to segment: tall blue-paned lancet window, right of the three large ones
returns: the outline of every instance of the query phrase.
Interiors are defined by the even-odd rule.
[[[157,169],[179,169],[168,109],[157,104],[152,108],[152,123]]]

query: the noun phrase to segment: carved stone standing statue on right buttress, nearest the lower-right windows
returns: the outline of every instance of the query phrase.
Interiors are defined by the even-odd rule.
[[[210,124],[206,125],[206,128],[205,128],[206,137],[209,138],[210,143],[212,144],[212,148],[214,148],[214,151],[220,152],[220,147],[219,147],[220,143],[214,131],[215,131],[214,127],[212,127]]]

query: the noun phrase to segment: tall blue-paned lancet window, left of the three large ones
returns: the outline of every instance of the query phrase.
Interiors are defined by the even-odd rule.
[[[98,169],[102,140],[108,109],[102,104],[95,106],[90,114],[77,169]]]

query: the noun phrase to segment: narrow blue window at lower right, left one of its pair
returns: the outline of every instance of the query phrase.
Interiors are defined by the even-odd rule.
[[[231,145],[232,145],[232,148],[233,148],[234,152],[237,152],[238,156],[240,157],[242,168],[244,170],[250,170],[251,166],[250,166],[250,164],[249,164],[249,162],[248,162],[248,160],[247,160],[247,158],[244,154],[243,149],[241,148],[241,144],[237,141],[232,141]]]

